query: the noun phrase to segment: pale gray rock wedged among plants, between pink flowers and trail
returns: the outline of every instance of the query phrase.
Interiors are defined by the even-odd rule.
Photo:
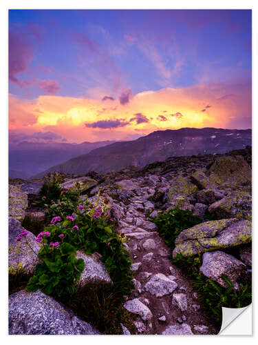
[[[85,263],[84,270],[76,285],[84,286],[87,282],[102,280],[112,282],[103,262],[98,261],[96,255],[86,255],[83,251],[78,250],[76,259],[83,259]]]

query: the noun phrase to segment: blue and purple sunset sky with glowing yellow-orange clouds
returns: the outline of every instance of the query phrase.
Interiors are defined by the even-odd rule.
[[[250,10],[9,10],[10,141],[251,128]]]

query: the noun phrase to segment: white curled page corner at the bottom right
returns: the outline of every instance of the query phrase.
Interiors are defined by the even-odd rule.
[[[252,335],[252,304],[244,308],[222,307],[219,335]]]

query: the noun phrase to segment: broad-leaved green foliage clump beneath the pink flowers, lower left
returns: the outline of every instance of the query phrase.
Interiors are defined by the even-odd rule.
[[[36,266],[27,290],[41,289],[47,295],[65,296],[74,293],[74,284],[83,272],[83,259],[76,259],[76,249],[69,243],[44,245],[39,251],[42,264]]]

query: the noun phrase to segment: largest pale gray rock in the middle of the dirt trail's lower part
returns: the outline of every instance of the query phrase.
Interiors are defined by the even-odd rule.
[[[149,291],[151,295],[155,295],[155,297],[162,297],[164,295],[168,295],[169,293],[173,293],[173,290],[178,287],[178,284],[173,282],[173,280],[169,279],[162,273],[158,273],[156,275],[152,275],[149,282],[145,284],[144,289]]]

